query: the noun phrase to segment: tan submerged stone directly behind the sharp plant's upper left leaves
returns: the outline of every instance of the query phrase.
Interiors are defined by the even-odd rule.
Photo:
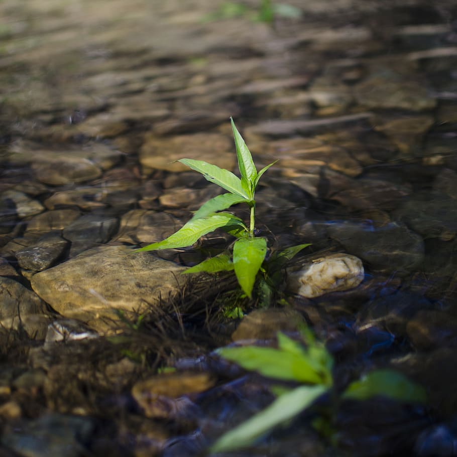
[[[176,160],[189,158],[204,160],[220,168],[232,170],[236,164],[234,146],[225,135],[197,133],[171,138],[149,135],[140,150],[140,163],[144,167],[172,172],[188,171],[189,167]]]

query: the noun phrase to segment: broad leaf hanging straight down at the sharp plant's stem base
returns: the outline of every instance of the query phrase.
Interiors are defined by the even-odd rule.
[[[239,238],[233,247],[233,263],[238,282],[251,298],[257,272],[267,254],[265,238]]]

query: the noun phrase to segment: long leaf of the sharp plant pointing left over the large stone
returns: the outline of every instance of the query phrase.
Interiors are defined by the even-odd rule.
[[[200,219],[191,219],[166,240],[137,249],[136,252],[184,248],[193,245],[200,237],[216,230],[216,228],[236,224],[244,226],[240,218],[228,212],[218,212]]]

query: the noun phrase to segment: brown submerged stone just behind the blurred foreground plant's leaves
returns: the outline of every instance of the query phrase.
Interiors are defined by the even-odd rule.
[[[303,316],[293,309],[255,309],[243,317],[232,339],[272,339],[278,331],[296,331],[304,323]]]

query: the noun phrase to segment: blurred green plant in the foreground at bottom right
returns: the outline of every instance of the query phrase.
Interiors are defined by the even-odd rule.
[[[366,400],[386,396],[393,400],[424,403],[425,391],[393,370],[375,370],[352,382],[342,394],[333,389],[333,359],[322,342],[308,329],[303,331],[306,346],[278,333],[278,349],[244,346],[217,350],[219,356],[236,362],[246,370],[282,381],[301,383],[293,389],[275,389],[277,399],[263,411],[222,435],[211,447],[212,452],[234,450],[251,445],[257,438],[310,407],[318,398]],[[315,422],[318,425],[319,421]],[[325,420],[318,425],[331,429]]]

